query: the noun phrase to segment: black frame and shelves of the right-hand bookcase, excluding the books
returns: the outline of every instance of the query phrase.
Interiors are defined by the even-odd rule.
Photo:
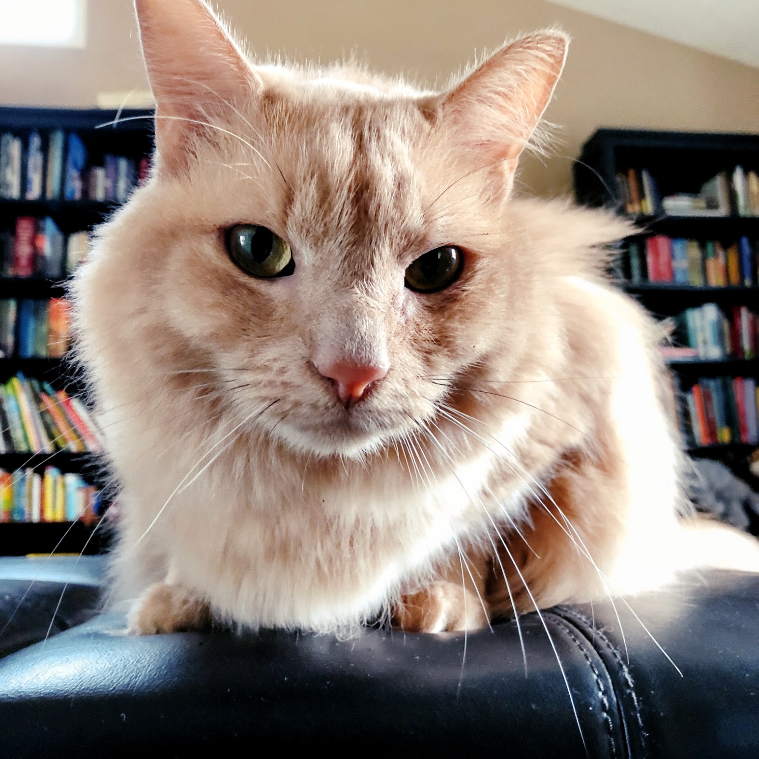
[[[641,241],[650,235],[686,238],[699,241],[738,241],[745,236],[759,250],[759,216],[738,216],[735,207],[729,216],[656,216],[625,213],[622,197],[618,197],[617,175],[629,168],[646,168],[657,181],[661,197],[678,193],[698,194],[701,186],[720,172],[730,172],[741,165],[748,172],[759,171],[759,135],[715,134],[695,132],[647,131],[635,129],[599,129],[584,143],[573,172],[578,202],[589,206],[613,209],[635,222],[638,231],[625,241]],[[630,282],[625,279],[624,266],[615,269],[620,287],[638,299],[658,318],[674,317],[685,309],[704,303],[716,303],[725,309],[746,306],[759,311],[757,262],[754,258],[754,279],[745,286],[692,286],[666,282]],[[685,345],[685,343],[683,343]],[[750,376],[759,379],[759,360],[726,357],[721,360],[668,360],[676,382],[682,389],[699,378],[716,376]],[[682,414],[687,412],[681,408]],[[685,418],[685,417],[684,417]],[[692,455],[720,458],[745,478],[748,455],[757,446],[742,442],[695,445]]]

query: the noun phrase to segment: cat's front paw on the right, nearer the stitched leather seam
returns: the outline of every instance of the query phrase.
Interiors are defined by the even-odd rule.
[[[453,582],[439,581],[407,594],[393,608],[395,627],[408,632],[478,630],[490,616],[474,593]]]

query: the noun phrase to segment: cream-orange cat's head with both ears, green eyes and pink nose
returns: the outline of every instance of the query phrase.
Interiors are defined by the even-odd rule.
[[[156,161],[92,272],[139,314],[153,368],[209,369],[230,428],[355,457],[522,350],[540,263],[509,193],[565,35],[518,39],[432,93],[252,65],[204,2],[136,5]]]

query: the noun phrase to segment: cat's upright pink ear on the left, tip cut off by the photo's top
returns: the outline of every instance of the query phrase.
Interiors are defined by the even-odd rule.
[[[235,109],[260,80],[203,0],[134,0],[150,87],[156,99],[159,171],[181,172],[192,138],[215,114]]]

